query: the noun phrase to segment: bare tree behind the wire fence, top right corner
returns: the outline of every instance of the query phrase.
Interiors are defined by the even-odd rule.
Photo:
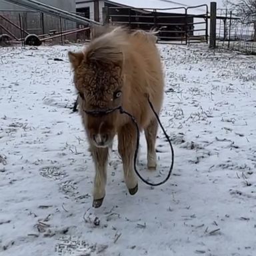
[[[244,23],[253,24],[253,41],[256,41],[256,0],[223,0],[223,3],[236,11]]]

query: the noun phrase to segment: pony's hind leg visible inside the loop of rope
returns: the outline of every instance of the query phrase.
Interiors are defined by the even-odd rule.
[[[157,139],[158,123],[157,119],[151,120],[145,128],[145,137],[147,140],[147,167],[155,170],[157,168],[157,154],[155,152],[155,141]]]

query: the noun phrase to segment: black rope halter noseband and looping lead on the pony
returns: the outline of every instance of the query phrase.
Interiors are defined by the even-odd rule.
[[[144,183],[146,183],[147,185],[151,185],[153,187],[157,187],[159,185],[163,185],[166,181],[168,181],[169,177],[171,177],[171,172],[173,171],[173,163],[174,163],[174,150],[173,150],[173,145],[171,144],[171,139],[169,138],[169,136],[167,135],[165,129],[163,128],[163,125],[159,119],[159,116],[157,115],[157,112],[155,111],[149,97],[147,98],[147,100],[149,101],[149,106],[151,107],[151,110],[153,111],[157,122],[159,123],[163,133],[165,134],[165,137],[170,145],[171,148],[171,167],[169,169],[168,175],[167,177],[163,180],[160,181],[159,183],[151,183],[150,181],[147,181],[146,179],[144,179],[140,174],[139,171],[137,171],[137,167],[136,167],[136,163],[137,163],[137,155],[138,155],[138,151],[139,151],[139,125],[137,124],[137,121],[135,119],[135,117],[133,117],[133,115],[131,115],[129,112],[125,111],[123,109],[123,107],[119,106],[119,107],[115,107],[114,109],[107,109],[107,110],[99,110],[99,111],[85,111],[85,113],[89,114],[89,115],[107,115],[109,113],[112,113],[114,111],[116,111],[117,109],[119,110],[119,112],[121,114],[125,114],[128,115],[131,120],[133,121],[135,127],[136,127],[136,131],[137,131],[137,141],[136,141],[136,149],[135,149],[135,155],[134,155],[134,160],[133,160],[133,165],[134,165],[134,171],[135,173],[139,176],[139,178],[141,179],[141,181],[143,181]]]

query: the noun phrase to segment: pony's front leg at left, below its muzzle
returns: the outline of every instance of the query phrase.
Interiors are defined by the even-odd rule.
[[[101,207],[105,197],[107,183],[107,158],[108,148],[91,145],[91,153],[95,164],[95,179],[93,189],[93,207]]]

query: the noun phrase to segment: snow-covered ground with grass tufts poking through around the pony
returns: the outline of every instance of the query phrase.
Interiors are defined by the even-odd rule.
[[[256,57],[159,45],[173,175],[129,195],[115,142],[93,211],[93,165],[71,111],[67,51],[80,47],[0,49],[0,255],[255,256]],[[164,179],[171,158],[160,130],[156,173],[145,170],[145,149],[141,137],[141,173]]]

